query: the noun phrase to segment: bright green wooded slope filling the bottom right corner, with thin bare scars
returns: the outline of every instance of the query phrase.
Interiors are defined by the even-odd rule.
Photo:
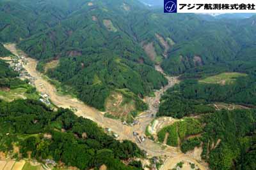
[[[161,129],[157,136],[163,142],[168,133],[166,144],[170,146],[177,146],[180,138],[184,153],[202,143],[201,156],[213,170],[255,169],[255,118],[256,110],[215,111],[199,120],[185,118],[175,122]]]

